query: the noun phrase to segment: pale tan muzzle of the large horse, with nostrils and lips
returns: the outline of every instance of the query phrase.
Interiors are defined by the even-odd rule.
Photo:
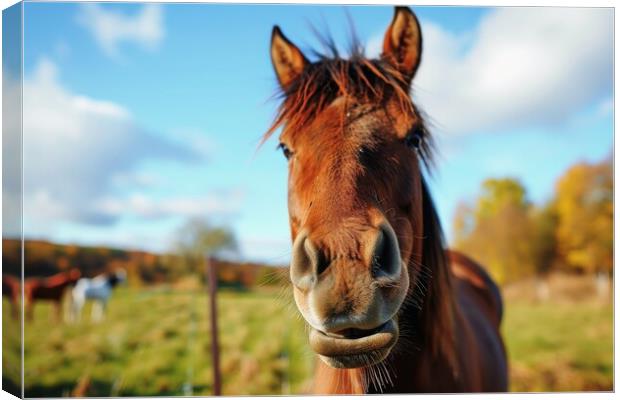
[[[409,287],[387,221],[358,231],[357,243],[356,257],[317,245],[307,232],[293,244],[293,295],[311,327],[310,347],[335,368],[370,366],[387,357],[398,339],[396,318]]]

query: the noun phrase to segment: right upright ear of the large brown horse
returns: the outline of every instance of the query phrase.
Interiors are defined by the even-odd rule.
[[[381,58],[394,65],[411,83],[422,55],[422,31],[408,7],[396,7],[392,23],[383,38]]]

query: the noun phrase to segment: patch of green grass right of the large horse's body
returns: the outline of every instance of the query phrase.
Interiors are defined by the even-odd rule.
[[[509,304],[503,332],[511,390],[612,390],[611,304]]]

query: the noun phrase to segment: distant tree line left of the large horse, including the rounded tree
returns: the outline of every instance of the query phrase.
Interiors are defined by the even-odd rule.
[[[45,277],[78,268],[82,276],[93,277],[123,268],[133,286],[174,283],[190,275],[205,282],[205,256],[209,255],[215,264],[220,287],[249,289],[285,282],[283,268],[231,258],[237,251],[237,241],[227,227],[212,225],[205,219],[193,219],[180,227],[175,237],[170,251],[162,254],[25,240],[24,275],[26,278]],[[20,240],[3,238],[2,247],[3,274],[20,276]]]

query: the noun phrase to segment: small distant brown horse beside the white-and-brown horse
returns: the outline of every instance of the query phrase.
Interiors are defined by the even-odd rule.
[[[81,273],[77,268],[67,272],[59,272],[47,278],[28,278],[24,281],[24,303],[26,316],[32,319],[35,300],[54,302],[58,319],[62,315],[62,298],[65,290],[80,279]]]

